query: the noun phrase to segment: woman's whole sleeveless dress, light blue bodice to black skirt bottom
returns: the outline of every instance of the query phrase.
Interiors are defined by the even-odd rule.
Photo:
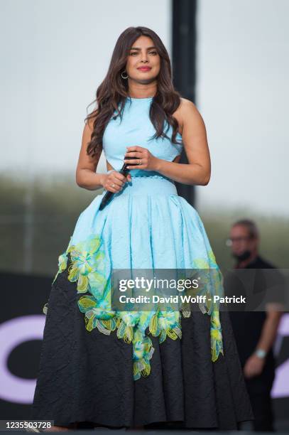
[[[179,133],[180,144],[151,139],[156,133],[149,119],[152,100],[127,98],[122,119],[115,112],[107,124],[103,151],[114,170],[123,166],[126,146],[142,146],[166,161],[180,155]],[[171,138],[172,127],[165,132]],[[214,269],[209,296],[222,293],[222,273],[195,208],[178,195],[170,178],[137,168],[130,173],[131,182],[103,210],[99,205],[106,190],[82,211],[59,256],[44,309],[33,417],[53,415],[58,424],[66,424],[77,414],[77,421],[113,421],[112,426],[180,420],[185,427],[236,429],[237,421],[252,419],[252,414],[227,313],[207,303],[200,304],[199,313],[111,310],[112,269]],[[60,318],[61,333],[55,332]],[[60,358],[54,368],[48,364],[51,355]],[[45,402],[45,385],[60,373],[59,365],[62,381],[58,377],[54,395],[46,394]],[[70,382],[83,402],[77,399],[67,407],[58,397],[56,405],[58,390],[67,392],[66,398],[74,394]]]

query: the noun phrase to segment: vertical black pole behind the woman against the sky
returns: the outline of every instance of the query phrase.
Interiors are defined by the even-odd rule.
[[[173,13],[173,84],[182,97],[195,102],[196,13],[197,0],[172,0]],[[180,163],[188,163],[182,150]],[[178,195],[195,204],[195,187],[175,183]]]

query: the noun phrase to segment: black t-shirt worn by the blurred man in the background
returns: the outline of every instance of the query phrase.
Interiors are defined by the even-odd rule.
[[[243,274],[242,279],[240,279],[241,274],[238,275],[240,269],[234,269],[234,272],[224,276],[224,294],[226,296],[243,295],[249,301],[249,305],[229,304],[230,308],[228,308],[242,367],[256,350],[258,340],[261,338],[266,311],[260,311],[260,306],[264,300],[282,303],[285,289],[283,276],[278,269],[266,262],[260,255],[247,264],[245,269],[259,270],[250,271],[252,273],[245,272],[246,275]],[[267,271],[262,269],[274,269],[274,271],[266,273]],[[246,379],[249,390],[252,392],[270,390],[275,375],[275,366],[276,361],[271,348],[266,355],[261,375]]]

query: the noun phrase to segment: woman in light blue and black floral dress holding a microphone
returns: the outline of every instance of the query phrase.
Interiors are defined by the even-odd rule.
[[[170,59],[145,27],[121,33],[97,109],[87,117],[77,184],[104,188],[59,257],[43,337],[33,419],[50,430],[237,429],[253,419],[226,311],[113,311],[111,269],[214,269],[195,208],[175,181],[206,186],[210,159],[195,104],[173,88]],[[164,128],[165,127],[165,128]],[[153,137],[154,136],[154,137]],[[190,163],[181,164],[185,146]],[[104,151],[108,173],[95,173]],[[119,171],[129,164],[129,175]],[[114,193],[102,209],[107,191]]]

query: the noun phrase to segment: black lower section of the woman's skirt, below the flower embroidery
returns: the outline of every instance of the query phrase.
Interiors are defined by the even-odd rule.
[[[150,335],[151,372],[133,380],[132,345],[87,331],[76,283],[58,275],[48,304],[32,419],[56,426],[90,421],[109,429],[175,426],[236,430],[253,411],[227,311],[220,311],[224,355],[212,362],[210,317],[182,318],[182,338]]]

